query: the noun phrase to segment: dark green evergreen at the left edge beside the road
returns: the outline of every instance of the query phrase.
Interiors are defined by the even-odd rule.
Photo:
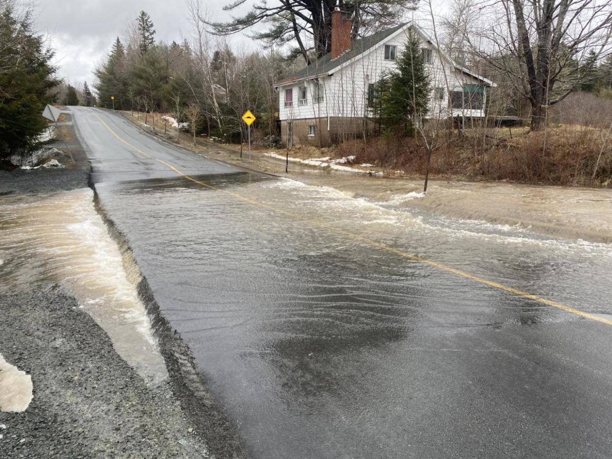
[[[34,146],[47,127],[40,116],[59,81],[53,51],[32,31],[32,15],[17,20],[10,2],[0,2],[0,159]]]

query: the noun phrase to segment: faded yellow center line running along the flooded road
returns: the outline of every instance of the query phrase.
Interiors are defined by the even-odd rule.
[[[361,241],[364,242],[364,244],[370,245],[371,247],[376,247],[379,248],[381,250],[385,250],[386,252],[390,252],[390,253],[394,253],[395,255],[399,255],[403,258],[408,258],[408,259],[412,259],[414,261],[418,261],[419,263],[424,263],[424,264],[428,264],[429,266],[433,266],[436,267],[438,269],[441,269],[442,271],[446,271],[446,272],[450,272],[452,274],[456,274],[458,276],[461,276],[463,278],[469,279],[469,280],[473,280],[474,282],[478,282],[484,285],[488,285],[490,287],[499,289],[499,290],[503,290],[503,291],[507,291],[508,293],[512,293],[518,296],[522,296],[524,298],[530,299],[530,300],[534,300],[535,302],[539,302],[541,304],[545,304],[548,306],[552,306],[558,309],[561,309],[565,312],[569,312],[572,314],[575,314],[577,316],[586,318],[586,319],[592,319],[595,320],[597,322],[606,324],[606,325],[610,325],[612,326],[612,320],[611,319],[606,319],[600,316],[597,316],[595,314],[591,314],[585,311],[581,311],[580,309],[576,309],[576,308],[572,308],[570,306],[566,306],[564,304],[561,304],[559,302],[553,301],[553,300],[548,300],[546,298],[542,298],[541,296],[537,296],[525,291],[522,291],[518,288],[513,288],[507,285],[503,285],[499,282],[494,282],[493,280],[488,280],[482,277],[478,277],[476,275],[473,274],[469,274],[469,272],[466,271],[461,271],[461,269],[456,269],[453,268],[451,266],[447,266],[446,264],[443,263],[439,263],[438,261],[433,261],[427,258],[423,258],[422,256],[418,256],[418,255],[413,255],[412,253],[408,253],[408,252],[404,252],[403,250],[400,250],[398,248],[394,248],[394,247],[390,247],[389,245],[383,244],[381,242],[378,241],[374,241],[373,239],[370,239],[369,237],[364,237],[364,236],[359,236],[357,234],[353,234],[353,233],[349,233],[349,231],[345,231],[345,230],[340,230],[340,228],[335,228],[334,226],[329,226],[326,223],[320,223],[320,222],[316,222],[315,220],[310,220],[308,218],[302,217],[301,215],[298,214],[294,214],[293,212],[288,212],[288,211],[283,211],[282,209],[277,209],[275,207],[269,206],[268,204],[264,204],[264,203],[260,203],[259,201],[255,201],[252,200],[250,198],[247,198],[245,196],[239,195],[238,193],[234,193],[234,192],[230,192],[228,190],[223,190],[222,188],[218,188],[215,187],[214,185],[211,184],[207,184],[205,182],[201,182],[199,180],[194,179],[191,176],[188,176],[185,173],[182,173],[181,171],[179,171],[176,167],[174,167],[173,165],[166,163],[163,160],[157,159],[152,157],[149,154],[146,154],[145,152],[139,150],[138,148],[136,148],[135,146],[133,146],[130,143],[127,143],[125,140],[123,140],[121,137],[119,137],[110,127],[108,127],[108,125],[102,120],[102,118],[100,118],[98,115],[96,115],[98,117],[98,119],[100,119],[100,121],[102,122],[103,125],[105,125],[106,129],[110,130],[111,133],[113,133],[113,135],[118,138],[120,141],[122,141],[122,143],[126,144],[127,146],[133,148],[135,151],[137,151],[138,153],[144,155],[144,157],[147,158],[151,158],[154,159],[155,161],[167,166],[168,168],[170,168],[171,170],[173,170],[174,172],[176,172],[177,174],[179,174],[180,176],[184,177],[185,179],[192,181],[198,185],[201,185],[204,188],[210,188],[211,190],[217,190],[219,192],[225,193],[227,195],[233,196],[234,198],[244,201],[246,203],[249,204],[253,204],[253,206],[258,206],[258,207],[263,207],[264,209],[269,209],[273,212],[276,212],[278,214],[283,214],[283,215],[287,215],[288,217],[291,218],[295,218],[297,220],[302,220],[303,222],[308,222],[310,225],[313,226],[318,226],[319,228],[324,228],[325,230],[329,230],[332,231],[334,233],[337,234],[341,234],[342,236],[346,236],[349,237],[350,239],[356,239],[357,241]]]

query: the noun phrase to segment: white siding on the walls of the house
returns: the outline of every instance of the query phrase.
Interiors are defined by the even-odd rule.
[[[349,64],[345,64],[334,70],[329,76],[319,77],[319,82],[324,84],[325,94],[322,103],[313,103],[312,88],[315,80],[300,81],[291,86],[279,88],[279,117],[286,119],[319,118],[327,116],[339,116],[348,118],[363,118],[367,115],[367,89],[368,84],[379,81],[384,73],[395,70],[396,61],[384,59],[385,45],[395,45],[396,60],[400,59],[401,53],[406,47],[408,40],[408,28],[401,30],[397,35],[389,37],[384,42],[370,48],[364,56]],[[442,61],[442,56],[433,49],[431,43],[422,38],[422,47],[432,48],[432,61],[427,64],[430,69],[432,95],[429,108],[429,118],[445,117],[449,111],[449,88],[463,88],[466,83],[479,83],[476,78],[465,75],[465,73],[454,70],[447,59]],[[359,51],[359,50],[357,50]],[[446,74],[446,78],[445,75]],[[305,105],[298,105],[298,88],[306,86],[308,99]],[[285,89],[293,89],[293,105],[285,106]],[[433,88],[444,88],[444,99],[434,100]],[[483,110],[453,110],[454,116],[483,116]]]

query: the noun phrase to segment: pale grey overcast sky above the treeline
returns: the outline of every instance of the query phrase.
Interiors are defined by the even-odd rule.
[[[92,70],[105,58],[114,39],[145,10],[154,23],[156,40],[171,42],[189,38],[184,0],[37,0],[37,28],[51,36],[56,50],[59,76],[69,83],[94,83]],[[274,1],[274,0],[271,0]],[[228,20],[222,10],[230,0],[204,0],[203,4],[214,20]],[[252,3],[252,2],[248,2]],[[444,0],[435,0],[444,4]],[[255,48],[251,40],[236,35],[231,42]]]

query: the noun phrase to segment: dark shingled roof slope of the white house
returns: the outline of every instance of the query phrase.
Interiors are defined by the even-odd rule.
[[[349,48],[344,53],[340,54],[336,59],[332,60],[332,53],[327,53],[325,56],[317,59],[315,62],[312,62],[310,65],[307,65],[303,69],[298,70],[293,75],[289,76],[289,78],[285,78],[285,80],[280,81],[275,86],[282,86],[286,83],[291,83],[297,80],[305,80],[307,78],[314,78],[318,75],[324,75],[326,73],[331,72],[332,70],[340,67],[340,65],[344,64],[347,61],[350,61],[359,54],[364,51],[369,50],[371,47],[377,45],[390,35],[397,32],[399,29],[406,26],[408,23],[398,24],[395,27],[390,29],[386,29],[380,32],[376,32],[375,34],[368,35],[367,37],[363,37],[357,40],[353,40],[351,43],[351,48]]]

